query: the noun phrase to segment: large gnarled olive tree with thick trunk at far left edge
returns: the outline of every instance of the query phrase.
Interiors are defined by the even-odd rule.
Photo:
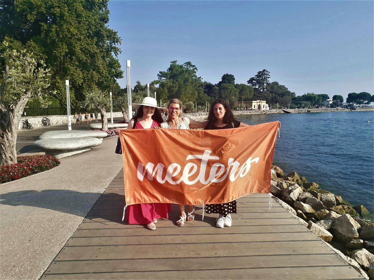
[[[7,47],[7,43],[3,43]],[[33,54],[24,50],[6,49],[3,59],[3,77],[0,80],[0,165],[16,164],[16,139],[22,112],[30,99],[43,100],[49,93],[50,72],[45,63],[34,59]]]

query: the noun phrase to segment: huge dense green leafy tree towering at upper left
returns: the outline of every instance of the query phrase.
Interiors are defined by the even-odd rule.
[[[65,80],[70,80],[71,103],[76,106],[85,90],[97,86],[110,91],[123,77],[118,61],[121,39],[108,23],[108,0],[3,0],[0,41],[15,50],[32,50],[45,60],[55,92],[49,98],[56,103],[65,104]]]

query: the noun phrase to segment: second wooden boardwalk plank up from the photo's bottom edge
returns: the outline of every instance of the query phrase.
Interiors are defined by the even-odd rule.
[[[163,252],[154,252],[160,257]],[[280,262],[281,261],[281,262]],[[90,260],[90,261],[57,261],[53,262],[47,273],[85,273],[108,271],[167,271],[167,270],[205,270],[205,269],[232,269],[252,267],[293,267],[293,266],[323,266],[341,265],[341,257],[337,255],[286,255],[286,256],[229,256],[204,258],[166,258],[123,260]],[[156,265],[157,264],[157,265]]]

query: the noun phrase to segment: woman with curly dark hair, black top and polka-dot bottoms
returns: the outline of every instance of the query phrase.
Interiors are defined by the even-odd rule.
[[[237,121],[235,119],[229,104],[227,104],[225,100],[217,99],[211,105],[208,115],[208,124],[205,126],[204,130],[227,129],[248,126],[248,124],[243,124],[242,122]],[[216,220],[217,227],[231,227],[232,218],[230,213],[236,214],[236,200],[227,203],[207,204],[205,212],[207,214],[220,214],[220,216]]]

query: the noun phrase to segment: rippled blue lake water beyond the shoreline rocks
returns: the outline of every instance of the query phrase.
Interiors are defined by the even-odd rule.
[[[249,115],[249,124],[280,121],[273,163],[374,212],[374,112]],[[370,121],[370,122],[368,122]]]

